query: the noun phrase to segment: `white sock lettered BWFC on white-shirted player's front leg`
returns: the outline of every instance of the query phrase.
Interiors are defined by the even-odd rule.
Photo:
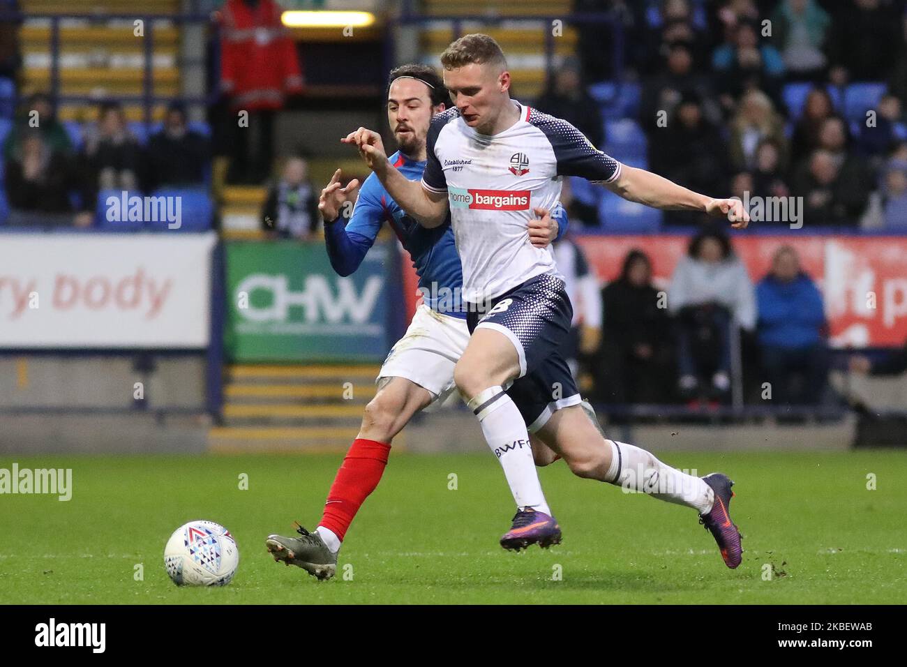
[[[551,515],[532,460],[526,423],[511,397],[501,387],[489,387],[466,405],[479,417],[485,442],[501,462],[517,507]]]

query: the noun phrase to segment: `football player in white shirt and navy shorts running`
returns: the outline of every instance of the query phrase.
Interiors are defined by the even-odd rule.
[[[731,480],[720,473],[690,476],[644,449],[608,439],[580,407],[559,353],[569,334],[570,299],[551,250],[529,242],[526,221],[532,209],[556,204],[564,176],[581,176],[659,209],[726,217],[735,228],[749,221],[742,202],[622,165],[571,123],[512,100],[506,59],[488,35],[456,40],[441,64],[455,108],[432,121],[421,183],[388,162],[377,132],[359,128],[341,141],[356,144],[397,204],[424,227],[444,224],[450,213],[473,332],[453,377],[488,445],[499,458],[512,457],[505,470],[524,481],[512,534],[540,541],[558,530],[535,476],[531,431],[578,476],[695,508],[725,564],[736,567],[742,548],[729,515]]]

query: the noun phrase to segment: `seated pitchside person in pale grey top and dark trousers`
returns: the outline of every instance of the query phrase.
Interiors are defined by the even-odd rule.
[[[668,310],[677,316],[681,395],[726,398],[731,327],[754,329],[756,298],[746,267],[724,231],[706,228],[690,241],[688,255],[671,278]]]

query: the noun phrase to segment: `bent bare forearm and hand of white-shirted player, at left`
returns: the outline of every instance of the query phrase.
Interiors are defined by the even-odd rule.
[[[418,181],[410,181],[390,162],[387,162],[381,135],[365,127],[350,132],[344,143],[356,144],[368,168],[385,186],[387,193],[401,209],[409,213],[423,227],[440,227],[447,216],[447,196],[424,190]]]

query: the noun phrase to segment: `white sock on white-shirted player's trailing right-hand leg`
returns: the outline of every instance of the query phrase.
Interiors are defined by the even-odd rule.
[[[715,492],[702,477],[666,466],[638,446],[616,440],[608,442],[611,446],[611,465],[607,476],[610,484],[649,494],[668,503],[687,505],[701,515],[711,511]]]

